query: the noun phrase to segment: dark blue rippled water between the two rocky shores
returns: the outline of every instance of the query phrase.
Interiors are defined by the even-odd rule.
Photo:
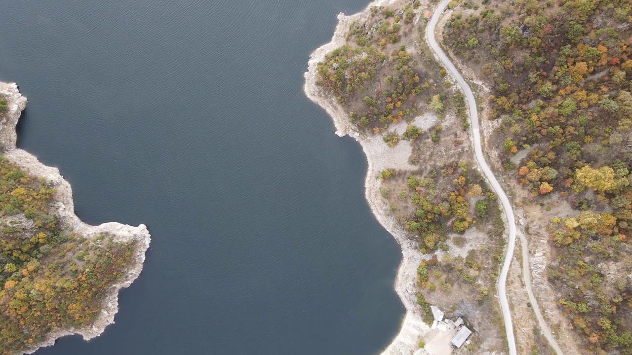
[[[18,145],[91,224],[147,224],[99,338],[37,355],[376,354],[403,308],[365,157],[303,95],[308,54],[368,0],[5,0]]]

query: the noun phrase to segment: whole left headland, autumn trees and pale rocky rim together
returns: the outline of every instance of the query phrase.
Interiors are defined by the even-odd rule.
[[[16,148],[26,97],[0,83],[0,354],[59,337],[89,340],[114,323],[118,292],[140,275],[150,235],[141,224],[89,226],[59,170]]]

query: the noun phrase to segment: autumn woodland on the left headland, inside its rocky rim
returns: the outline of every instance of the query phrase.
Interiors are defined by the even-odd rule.
[[[1,112],[0,112],[1,113]],[[133,244],[85,239],[52,213],[55,190],[0,157],[0,354],[95,320]]]

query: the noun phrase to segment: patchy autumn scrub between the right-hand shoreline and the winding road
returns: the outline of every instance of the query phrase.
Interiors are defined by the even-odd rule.
[[[456,304],[444,298],[446,292],[454,293],[464,304],[476,303],[481,313],[495,314],[497,305],[490,295],[495,292],[502,260],[504,225],[497,196],[471,162],[422,161],[428,151],[446,149],[454,149],[451,159],[463,157],[468,148],[456,137],[457,131],[469,129],[469,117],[465,98],[447,81],[446,70],[435,62],[423,40],[426,20],[418,4],[414,1],[401,9],[375,7],[367,20],[351,23],[346,44],[318,64],[317,85],[341,104],[360,131],[382,135],[391,147],[413,147],[409,162],[420,169],[381,171],[380,193],[419,250],[428,255],[429,260],[417,270],[417,284],[418,304],[431,324],[430,304],[424,295],[434,303],[443,299],[440,303],[446,310],[454,310]],[[439,117],[433,128],[422,130],[411,122],[428,111]],[[442,124],[448,116],[450,126],[444,131]],[[391,124],[401,121],[408,122],[405,130],[389,131]],[[468,235],[481,236],[480,240],[468,240],[463,235],[468,230],[472,231]],[[437,258],[437,254],[443,256]],[[476,318],[469,311],[459,314]],[[481,327],[492,328],[495,334],[493,328],[501,323],[494,318],[494,324]]]

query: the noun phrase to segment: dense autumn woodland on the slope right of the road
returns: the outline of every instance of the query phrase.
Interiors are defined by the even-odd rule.
[[[588,351],[632,354],[632,2],[461,5],[444,45],[492,83],[503,168],[575,210],[549,226],[559,306]]]

